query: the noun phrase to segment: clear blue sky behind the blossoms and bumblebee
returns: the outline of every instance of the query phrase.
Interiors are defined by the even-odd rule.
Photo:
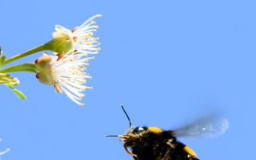
[[[14,73],[18,99],[1,85],[3,160],[133,159],[118,139],[134,126],[175,129],[219,110],[229,130],[216,139],[180,139],[200,159],[251,159],[255,144],[256,22],[253,0],[1,1],[0,46],[8,56],[52,39],[56,24],[72,29],[94,14],[101,52],[85,107]],[[37,53],[19,62],[34,62]],[[16,62],[15,62],[16,63]]]

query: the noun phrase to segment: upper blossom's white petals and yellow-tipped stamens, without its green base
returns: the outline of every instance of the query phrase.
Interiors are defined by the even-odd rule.
[[[101,18],[102,15],[94,15],[85,21],[80,27],[75,27],[73,30],[66,29],[60,25],[56,25],[56,32],[53,33],[53,37],[67,37],[66,40],[72,41],[72,48],[78,53],[85,54],[97,54],[101,43],[98,43],[98,37],[92,37],[93,32],[98,30],[98,25],[95,25],[96,22],[92,21],[94,18]]]

